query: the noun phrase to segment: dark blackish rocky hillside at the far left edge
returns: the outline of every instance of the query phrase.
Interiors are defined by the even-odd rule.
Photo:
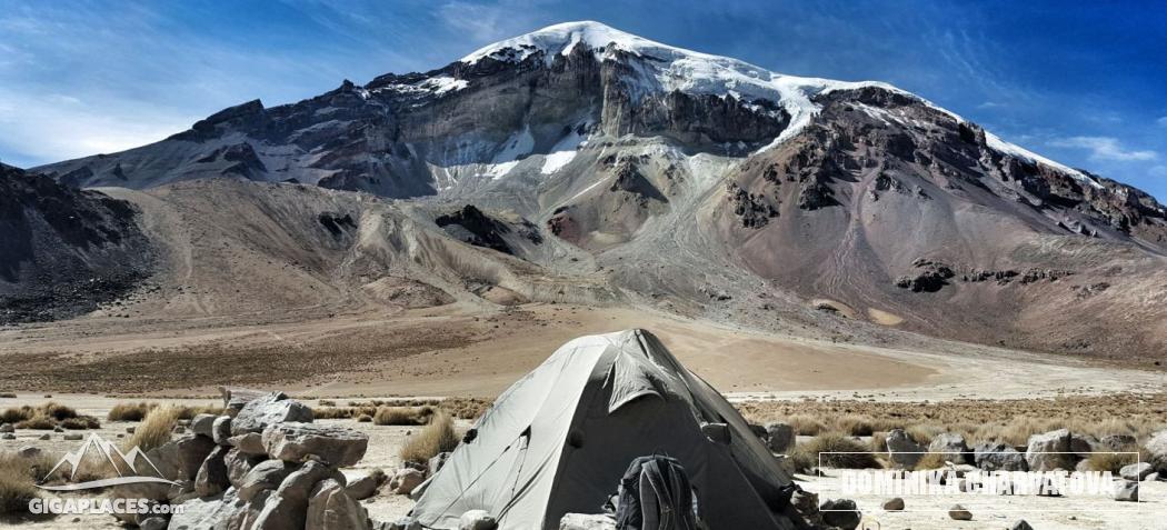
[[[68,319],[141,285],[154,246],[128,202],[0,165],[0,325]]]

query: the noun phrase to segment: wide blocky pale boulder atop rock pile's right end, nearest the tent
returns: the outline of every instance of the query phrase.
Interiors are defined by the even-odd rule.
[[[270,425],[263,440],[273,459],[298,462],[310,455],[341,467],[359,462],[369,448],[369,435],[355,428],[295,421]]]

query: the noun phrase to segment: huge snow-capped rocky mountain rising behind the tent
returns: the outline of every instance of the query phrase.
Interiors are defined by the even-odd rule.
[[[34,172],[174,208],[195,189],[246,197],[329,252],[272,259],[359,293],[392,271],[431,301],[621,304],[1095,355],[1167,346],[1167,210],[1147,194],[883,83],[785,76],[596,22]],[[196,179],[209,180],[180,184]]]

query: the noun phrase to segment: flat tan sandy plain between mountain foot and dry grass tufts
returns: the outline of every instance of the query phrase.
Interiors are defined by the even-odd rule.
[[[109,370],[130,360],[147,370],[156,365],[156,382],[135,388],[134,393],[215,395],[215,377],[203,377],[202,384],[193,386],[187,383],[193,370],[217,367],[235,384],[263,386],[274,377],[302,376],[277,386],[305,396],[490,397],[571,339],[630,327],[656,333],[686,367],[733,399],[1027,398],[1158,391],[1167,383],[1163,372],[976,344],[938,342],[935,351],[879,348],[749,332],[647,311],[566,305],[529,305],[492,314],[450,306],[305,322],[141,321],[112,328],[83,319],[0,329],[0,361],[13,360],[21,368],[47,364],[34,375],[50,384],[72,381],[78,371],[93,371],[88,377],[99,383],[97,390],[78,393],[117,392],[113,389],[120,383]],[[342,342],[343,347],[335,346]],[[352,349],[351,343],[371,349]],[[239,374],[231,371],[235,358],[211,356],[190,364],[183,357],[183,348],[205,346],[244,351],[266,348],[275,362],[254,374]],[[288,349],[288,362],[302,364],[281,365],[281,348]],[[293,348],[301,356],[293,356]],[[313,348],[322,353],[315,355]],[[169,357],[159,355],[159,349]],[[180,362],[190,364],[183,368],[187,372],[167,371]],[[85,389],[84,382],[75,386],[79,388],[28,390]]]

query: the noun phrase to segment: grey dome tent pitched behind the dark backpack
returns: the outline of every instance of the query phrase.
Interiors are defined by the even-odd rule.
[[[726,424],[714,441],[703,424]],[[595,514],[636,456],[680,461],[711,530],[791,529],[777,512],[791,477],[738,411],[651,333],[575,339],[502,393],[420,487],[412,516],[456,529],[485,510],[501,530],[558,529],[568,512]]]

